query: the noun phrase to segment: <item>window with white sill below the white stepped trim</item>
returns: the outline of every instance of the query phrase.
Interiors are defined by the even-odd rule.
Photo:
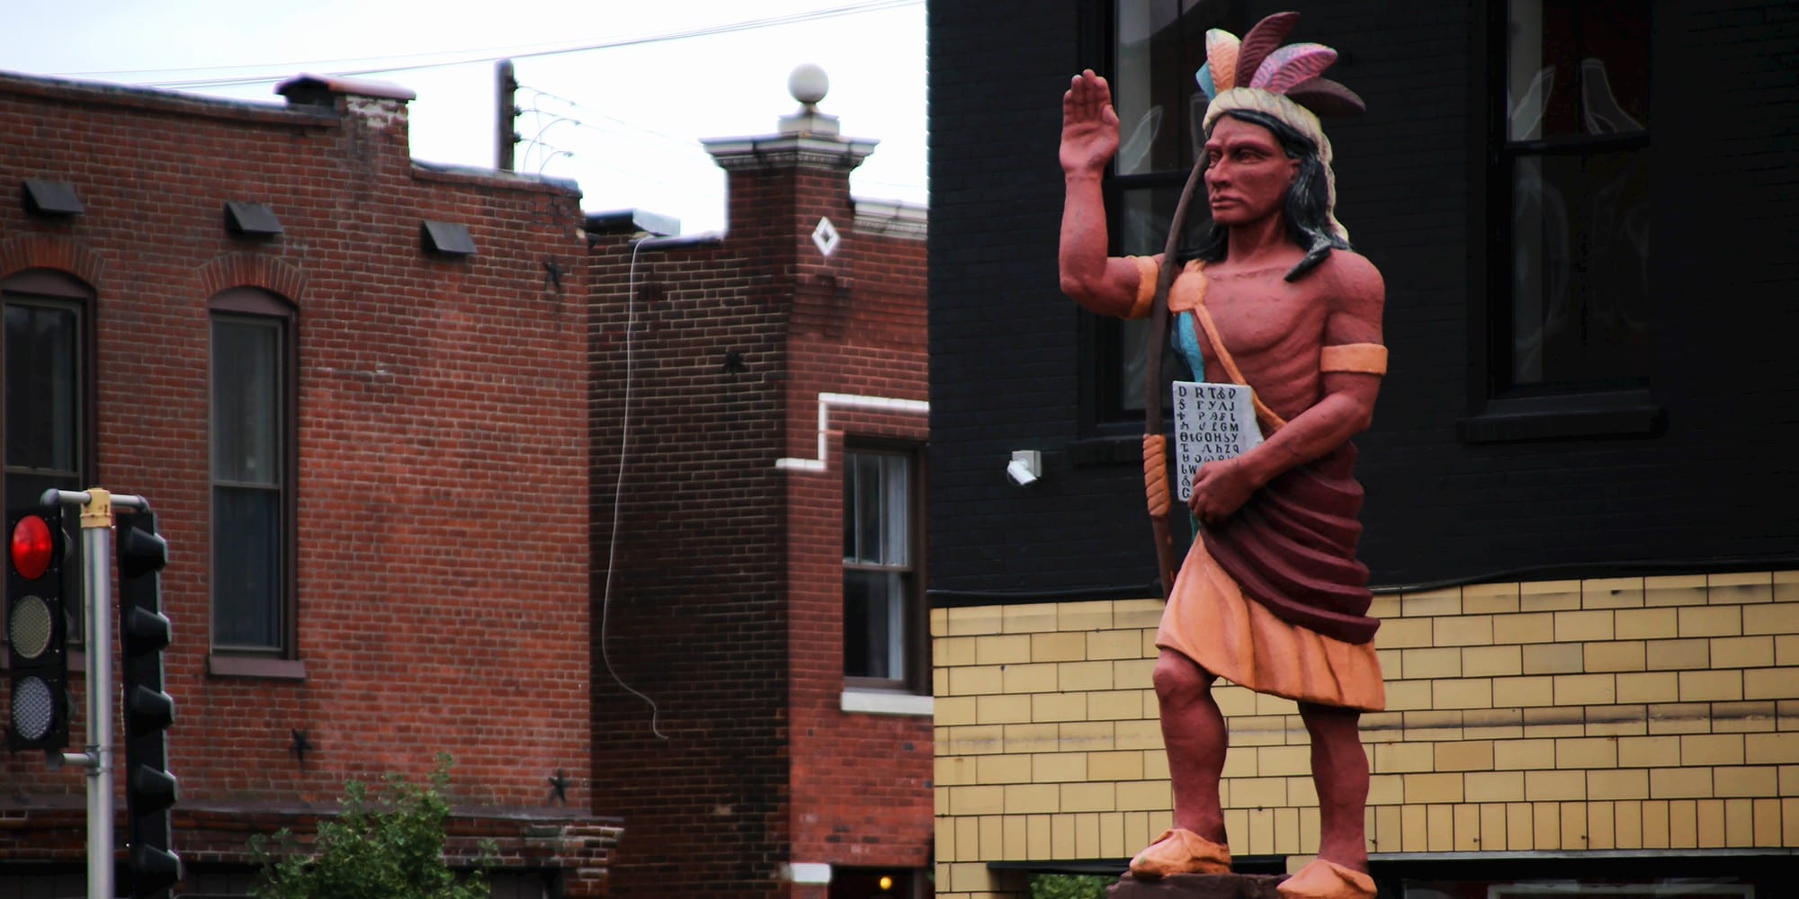
[[[844,460],[844,680],[928,687],[916,563],[914,457],[851,451]]]

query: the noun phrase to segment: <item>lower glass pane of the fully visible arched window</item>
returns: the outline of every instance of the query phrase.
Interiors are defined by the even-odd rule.
[[[281,647],[281,493],[212,489],[212,640]]]

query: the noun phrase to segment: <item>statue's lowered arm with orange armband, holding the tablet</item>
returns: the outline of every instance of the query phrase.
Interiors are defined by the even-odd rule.
[[[1320,266],[1329,282],[1331,309],[1324,320],[1324,347],[1382,343],[1380,316],[1387,289],[1374,266],[1349,252],[1333,252]],[[1320,399],[1293,415],[1261,446],[1225,462],[1200,467],[1187,503],[1205,523],[1220,523],[1284,471],[1337,450],[1374,421],[1380,374],[1322,372]]]

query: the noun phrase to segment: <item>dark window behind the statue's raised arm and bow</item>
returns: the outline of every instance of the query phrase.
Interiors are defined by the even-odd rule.
[[[1205,65],[1205,29],[1243,31],[1236,0],[1117,0],[1112,20],[1112,106],[1119,113],[1119,153],[1112,162],[1106,209],[1114,255],[1155,255],[1168,241],[1180,187],[1205,146],[1205,93],[1193,74]],[[1209,225],[1196,203],[1186,232]],[[1144,394],[1148,320],[1094,320],[1094,417],[1137,419]]]

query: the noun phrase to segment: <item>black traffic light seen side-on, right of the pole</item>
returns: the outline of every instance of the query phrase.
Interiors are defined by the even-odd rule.
[[[175,699],[162,690],[162,651],[169,619],[162,615],[162,566],[169,543],[157,516],[119,516],[119,649],[124,694],[124,804],[130,816],[131,895],[164,895],[182,879],[169,807],[180,795],[169,773],[169,725]]]

